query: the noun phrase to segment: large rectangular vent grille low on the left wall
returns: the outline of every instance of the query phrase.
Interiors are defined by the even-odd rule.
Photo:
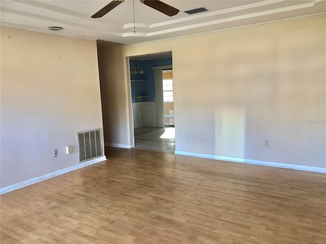
[[[102,156],[101,129],[77,132],[79,163]]]

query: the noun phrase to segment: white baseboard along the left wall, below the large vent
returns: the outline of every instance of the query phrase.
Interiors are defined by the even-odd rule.
[[[49,178],[52,178],[52,177],[55,177],[55,176],[58,176],[58,175],[61,175],[61,174],[64,174],[64,173],[68,173],[68,172],[76,170],[76,169],[84,168],[86,166],[102,162],[104,160],[106,160],[106,157],[102,156],[100,158],[96,158],[96,159],[92,159],[92,160],[84,162],[84,163],[76,164],[76,165],[70,166],[70,167],[65,168],[65,169],[60,169],[60,170],[57,170],[55,172],[44,174],[44,175],[41,175],[41,176],[38,176],[38,177],[35,177],[35,178],[32,178],[32,179],[24,180],[24,181],[21,181],[21,182],[18,182],[16,184],[14,184],[14,185],[10,185],[8,187],[3,187],[3,188],[0,189],[0,195],[5,194],[7,192],[17,190],[19,188],[30,186],[32,184],[35,184],[35,183],[40,182],[40,181],[45,180],[45,179],[49,179]]]

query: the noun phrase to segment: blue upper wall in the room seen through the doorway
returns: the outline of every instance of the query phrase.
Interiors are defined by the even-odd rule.
[[[130,69],[132,70],[135,61],[129,61]],[[155,66],[165,66],[172,65],[172,57],[170,58],[161,58],[161,59],[152,59],[146,61],[137,61],[137,66],[141,67],[144,70],[144,74],[130,74],[130,80],[145,80],[142,85],[140,82],[131,81],[131,97],[138,96],[148,96],[147,98],[142,98],[138,100],[139,102],[153,102],[155,99],[155,82],[154,74],[152,67]],[[132,99],[132,102],[136,102],[135,99]]]

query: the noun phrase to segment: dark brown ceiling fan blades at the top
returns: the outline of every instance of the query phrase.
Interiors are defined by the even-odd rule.
[[[100,9],[98,12],[93,14],[92,18],[100,18],[113,10],[115,7],[117,7],[119,4],[122,4],[125,0],[113,0],[110,4],[106,5],[102,9]],[[151,7],[161,13],[164,13],[168,16],[173,16],[179,13],[179,10],[158,0],[139,0],[142,4],[147,5],[148,7]]]

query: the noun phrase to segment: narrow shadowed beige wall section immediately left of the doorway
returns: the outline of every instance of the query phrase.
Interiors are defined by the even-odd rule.
[[[126,45],[98,49],[98,65],[104,128],[104,143],[129,147],[133,144],[131,85]],[[128,65],[128,66],[126,66]]]

